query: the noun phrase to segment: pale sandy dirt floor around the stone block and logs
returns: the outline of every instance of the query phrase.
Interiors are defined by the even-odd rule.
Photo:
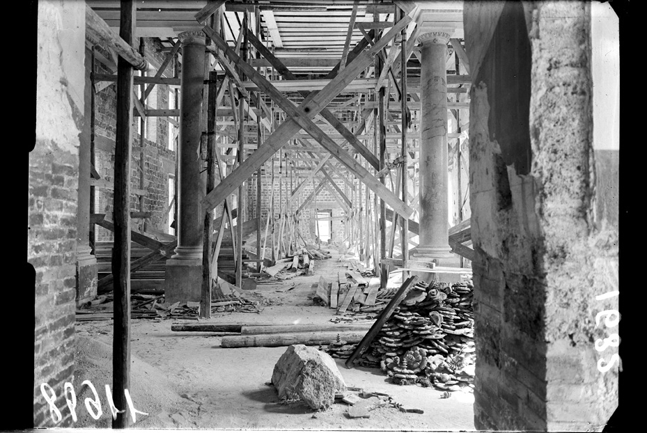
[[[264,299],[260,313],[214,313],[210,322],[331,324],[334,310],[316,306],[312,283],[320,276],[332,278],[342,271],[340,254],[329,249],[333,258],[315,260],[312,276],[297,276],[288,292],[276,292],[284,285],[258,285],[245,292]],[[182,321],[178,321],[182,322]],[[195,321],[186,321],[196,323]],[[201,320],[201,322],[207,322]],[[474,395],[455,392],[442,398],[442,392],[420,386],[390,384],[379,369],[345,368],[336,359],[347,386],[364,391],[387,393],[407,408],[423,414],[403,413],[393,407],[380,407],[370,418],[349,418],[348,405],[336,403],[326,411],[313,411],[303,402],[280,402],[274,387],[267,385],[274,364],[286,347],[220,347],[221,336],[214,333],[171,331],[172,320],[132,321],[131,390],[137,415],[137,429],[254,429],[254,430],[474,430]],[[77,322],[77,416],[74,427],[110,427],[105,403],[105,385],[111,386],[112,321]],[[91,397],[89,380],[98,391],[103,414],[94,420],[81,402]],[[81,393],[81,390],[83,392]]]

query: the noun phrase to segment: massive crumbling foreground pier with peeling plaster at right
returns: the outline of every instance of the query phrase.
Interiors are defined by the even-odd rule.
[[[606,203],[600,219],[594,203],[618,173],[595,170],[591,5],[466,2],[464,16],[475,425],[601,430],[618,404],[618,365],[600,372],[598,360],[617,353],[604,339],[618,328],[595,315],[618,298],[595,296],[618,290],[618,230],[605,222],[618,210]],[[611,345],[598,352],[598,339]]]

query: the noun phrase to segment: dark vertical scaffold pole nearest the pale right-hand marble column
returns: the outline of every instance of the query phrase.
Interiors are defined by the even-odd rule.
[[[398,20],[402,19],[404,15],[404,11],[401,10],[400,8],[396,7],[396,13]],[[405,203],[409,203],[409,199],[407,198],[407,178],[408,178],[408,158],[407,158],[407,129],[409,128],[409,124],[407,123],[407,56],[405,53],[407,52],[407,29],[404,28],[402,29],[402,45],[400,45],[400,49],[402,52],[402,56],[400,56],[400,60],[402,61],[402,68],[400,70],[402,71],[402,79],[401,79],[401,86],[402,86],[402,97],[400,98],[400,107],[401,107],[401,112],[402,112],[402,148],[400,150],[400,155],[402,155],[403,162],[402,162],[402,200]],[[402,265],[404,268],[409,267],[409,219],[408,218],[400,218],[400,221],[402,221]],[[408,277],[410,275],[410,271],[404,271],[403,278]]]

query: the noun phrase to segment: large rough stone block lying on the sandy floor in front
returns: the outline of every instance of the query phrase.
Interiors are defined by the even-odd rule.
[[[327,409],[346,384],[335,361],[306,345],[291,345],[274,365],[272,384],[281,399],[301,398],[312,409]]]

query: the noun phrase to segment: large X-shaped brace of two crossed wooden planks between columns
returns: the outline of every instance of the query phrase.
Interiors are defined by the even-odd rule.
[[[348,81],[352,81],[354,77],[357,77],[357,74],[364,70],[366,68],[366,65],[371,62],[372,57],[386,45],[391,38],[393,38],[400,29],[403,29],[404,26],[408,22],[410,22],[410,17],[403,17],[403,19],[396,24],[396,26],[393,26],[393,29],[387,33],[387,36],[385,36],[380,42],[377,42],[373,48],[368,50],[368,52],[363,52],[361,54],[358,54],[358,56],[348,65],[345,70],[341,73],[338,74],[330,83],[324,88],[324,90],[320,91],[317,95],[309,98],[306,98],[304,102],[302,102],[301,106],[299,108],[295,107],[290,101],[287,100],[286,97],[283,96],[282,93],[280,93],[276,88],[274,88],[264,77],[260,76],[260,74],[256,73],[256,70],[254,68],[251,68],[251,66],[247,65],[247,63],[244,63],[244,61],[241,61],[240,56],[237,56],[233,51],[228,47],[226,42],[219,38],[218,36],[212,37],[212,39],[216,42],[217,45],[221,49],[224,50],[226,56],[231,58],[231,60],[236,63],[242,70],[244,70],[245,73],[249,74],[250,77],[252,78],[252,81],[254,81],[260,88],[263,88],[265,93],[270,95],[272,97],[272,100],[274,100],[277,104],[281,106],[283,111],[286,111],[288,115],[290,116],[290,119],[286,122],[283,123],[279,129],[270,136],[270,138],[267,141],[272,141],[272,139],[275,139],[275,143],[272,143],[272,145],[266,145],[263,146],[263,150],[267,149],[265,152],[262,150],[257,150],[254,152],[254,154],[248,159],[248,161],[251,161],[254,159],[254,164],[263,164],[263,162],[269,158],[272,153],[270,152],[275,152],[283,144],[286,143],[290,139],[291,136],[293,136],[296,132],[298,132],[299,129],[303,128],[306,129],[306,131],[309,132],[315,139],[317,139],[322,146],[327,148],[330,152],[333,152],[334,156],[339,159],[345,166],[347,166],[351,171],[355,173],[364,183],[368,185],[373,191],[376,192],[376,194],[379,194],[384,198],[384,201],[389,203],[393,207],[396,212],[403,214],[403,216],[409,216],[413,210],[411,207],[408,207],[407,205],[404,205],[404,203],[401,202],[399,198],[397,198],[391,191],[389,191],[387,188],[384,187],[384,185],[380,184],[380,182],[375,179],[364,167],[361,167],[360,164],[357,164],[357,162],[350,156],[348,155],[347,152],[341,150],[339,146],[332,141],[332,139],[329,139],[329,137],[323,133],[311,120],[316,114],[318,114],[323,107],[325,107],[326,104],[328,104],[336,95],[338,95],[341,90],[345,87],[346,84],[348,84]],[[206,33],[212,33],[210,29],[205,27],[204,31]],[[300,109],[300,107],[303,107],[303,109]],[[265,155],[265,153],[269,153],[269,155]],[[260,160],[260,164],[258,162]],[[244,182],[244,179],[247,178],[247,173],[249,171],[249,168],[251,170],[255,170],[257,166],[250,164],[251,167],[239,167],[239,171],[242,168],[245,168],[245,171],[240,173],[240,182],[239,179],[236,179],[234,176],[236,173],[232,173],[231,176],[234,176],[233,182],[228,185],[226,188],[235,188],[235,185],[240,184],[241,182]],[[222,184],[221,184],[222,185]],[[219,187],[221,186],[219,185]],[[223,187],[225,189],[225,187]],[[221,197],[219,196],[220,194],[217,193],[224,193],[223,196],[226,196],[225,191],[217,191],[214,190],[212,191],[212,194],[210,196],[206,197],[203,204],[207,206],[215,206],[214,203],[209,203],[213,201],[219,200]]]

